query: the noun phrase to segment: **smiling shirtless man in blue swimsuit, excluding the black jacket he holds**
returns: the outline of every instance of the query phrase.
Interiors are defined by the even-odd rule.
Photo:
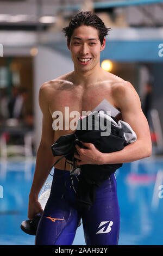
[[[48,170],[59,158],[53,157],[51,145],[60,136],[74,132],[71,129],[54,131],[54,111],[61,111],[66,123],[66,119],[70,122],[72,118],[64,116],[65,107],[69,107],[70,113],[78,111],[82,116],[82,111],[92,111],[105,99],[121,112],[118,120],[126,121],[137,135],[135,142],[114,153],[101,153],[91,143],[83,143],[88,149],[76,146],[78,154],[74,156],[78,159],[77,165],[128,163],[149,157],[152,151],[147,119],[134,87],[100,66],[100,53],[105,48],[105,36],[109,29],[94,13],[82,12],[74,15],[69,26],[62,31],[67,36],[74,71],[45,82],[40,88],[42,136],[29,194],[28,218],[31,220],[36,214],[42,214],[35,245],[72,245],[81,218],[86,245],[117,245],[120,209],[114,174],[97,187],[91,210],[80,216],[74,204],[76,194],[70,186],[65,187],[65,181],[70,177],[70,164],[64,170],[65,159],[62,159],[55,165],[51,195],[44,211],[38,202],[39,192],[49,175]],[[77,188],[78,180],[74,181]]]

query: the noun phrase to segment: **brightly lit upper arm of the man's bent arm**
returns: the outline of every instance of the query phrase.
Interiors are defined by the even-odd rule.
[[[142,112],[140,98],[134,87],[129,82],[124,82],[115,89],[115,95],[123,121],[135,131],[137,140],[151,148],[148,121]]]

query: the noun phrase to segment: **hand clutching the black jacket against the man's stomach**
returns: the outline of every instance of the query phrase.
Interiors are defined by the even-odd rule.
[[[82,142],[82,144],[87,147],[87,149],[80,148],[76,145],[77,153],[74,153],[74,157],[77,159],[77,166],[82,164],[103,164],[102,153],[94,144],[86,142]]]

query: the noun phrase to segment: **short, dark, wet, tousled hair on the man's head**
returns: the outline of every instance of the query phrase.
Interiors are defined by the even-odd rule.
[[[65,27],[62,29],[62,32],[65,33],[65,36],[67,36],[68,43],[70,44],[71,36],[73,34],[74,29],[80,27],[80,26],[91,26],[93,28],[96,28],[98,30],[98,36],[99,41],[101,42],[101,45],[103,44],[104,36],[108,34],[111,28],[106,28],[104,22],[91,11],[81,11],[78,14],[75,14],[68,25],[68,27]]]

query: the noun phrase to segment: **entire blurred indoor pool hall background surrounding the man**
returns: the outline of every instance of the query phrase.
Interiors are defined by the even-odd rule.
[[[39,89],[73,70],[61,29],[79,11],[111,28],[101,66],[133,84],[151,131],[152,156],[116,171],[119,245],[162,245],[163,1],[156,0],[0,0],[0,245],[34,244],[20,224],[41,138]],[[85,245],[82,225],[73,245]]]

